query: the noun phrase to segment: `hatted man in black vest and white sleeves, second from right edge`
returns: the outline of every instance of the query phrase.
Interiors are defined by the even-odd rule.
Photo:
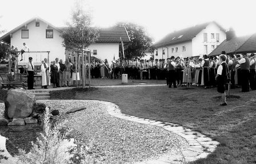
[[[250,69],[250,60],[247,58],[247,54],[243,53],[243,58],[241,60],[237,60],[235,58],[235,63],[240,64],[241,67],[241,87],[242,92],[249,92],[250,86],[249,86],[249,69]]]

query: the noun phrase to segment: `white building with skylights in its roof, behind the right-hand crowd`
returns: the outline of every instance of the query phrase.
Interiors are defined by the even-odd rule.
[[[174,31],[154,44],[155,59],[208,55],[226,39],[225,29],[216,22]]]

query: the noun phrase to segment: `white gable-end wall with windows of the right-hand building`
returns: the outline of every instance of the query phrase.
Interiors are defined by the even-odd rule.
[[[207,33],[207,42],[203,42],[203,33]],[[214,33],[215,38],[211,39],[211,33]],[[219,42],[216,42],[216,34],[219,34]],[[211,53],[211,45],[214,45],[215,48],[223,42],[223,40],[226,39],[226,33],[221,31],[221,29],[217,26],[215,23],[210,23],[208,26],[206,26],[205,29],[203,29],[201,32],[197,34],[192,39],[192,54],[193,56],[202,56],[205,55],[205,49],[204,45],[207,45],[207,54],[209,55]]]

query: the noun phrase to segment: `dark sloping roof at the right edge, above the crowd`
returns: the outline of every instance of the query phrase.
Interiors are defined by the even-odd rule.
[[[235,48],[237,48],[237,54],[256,52],[256,33],[224,40],[208,56],[220,55],[222,51],[226,51],[227,55],[234,54]]]

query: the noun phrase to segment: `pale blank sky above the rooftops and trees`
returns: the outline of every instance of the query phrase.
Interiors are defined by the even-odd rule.
[[[10,31],[33,17],[65,26],[74,1],[0,0],[0,30]],[[174,30],[213,20],[224,28],[233,27],[237,36],[256,32],[254,0],[84,0],[83,5],[91,12],[93,26],[137,23],[154,41]]]

